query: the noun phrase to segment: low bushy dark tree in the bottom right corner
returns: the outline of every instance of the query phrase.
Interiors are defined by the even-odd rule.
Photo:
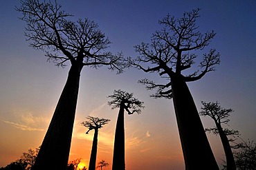
[[[240,145],[239,150],[234,152],[237,170],[256,170],[256,143],[248,139],[242,140]]]

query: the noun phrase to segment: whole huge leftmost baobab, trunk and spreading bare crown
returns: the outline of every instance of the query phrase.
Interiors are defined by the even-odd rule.
[[[121,53],[112,54],[107,50],[111,42],[94,21],[86,18],[71,21],[72,15],[62,10],[57,1],[20,2],[16,10],[22,14],[19,19],[26,22],[25,36],[30,46],[46,52],[48,61],[57,66],[71,65],[33,167],[34,170],[49,169],[51,164],[50,169],[66,169],[82,68],[108,65],[110,70],[121,73],[125,64]]]

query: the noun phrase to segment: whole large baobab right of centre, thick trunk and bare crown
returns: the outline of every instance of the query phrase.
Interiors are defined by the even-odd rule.
[[[139,70],[156,72],[165,80],[156,83],[145,78],[139,82],[147,89],[156,89],[152,97],[173,99],[186,169],[219,169],[187,86],[188,82],[197,81],[214,71],[215,65],[220,63],[220,54],[214,49],[201,54],[214,38],[215,32],[199,31],[196,25],[199,10],[184,12],[179,19],[168,14],[159,21],[163,29],[154,32],[151,43],[134,46],[139,56],[130,58],[130,62]],[[198,55],[202,59],[199,69],[196,69],[192,66],[199,61]],[[191,73],[189,68],[192,68]]]

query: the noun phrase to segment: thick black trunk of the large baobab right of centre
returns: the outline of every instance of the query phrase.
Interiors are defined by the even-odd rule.
[[[183,76],[172,77],[172,94],[185,169],[219,169]]]

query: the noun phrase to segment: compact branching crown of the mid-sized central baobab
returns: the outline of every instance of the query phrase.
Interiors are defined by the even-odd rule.
[[[128,114],[140,114],[140,108],[144,109],[143,101],[138,100],[138,98],[134,98],[133,93],[128,93],[120,89],[114,90],[113,95],[108,96],[108,98],[113,99],[108,102],[111,109],[116,109],[122,105]]]

